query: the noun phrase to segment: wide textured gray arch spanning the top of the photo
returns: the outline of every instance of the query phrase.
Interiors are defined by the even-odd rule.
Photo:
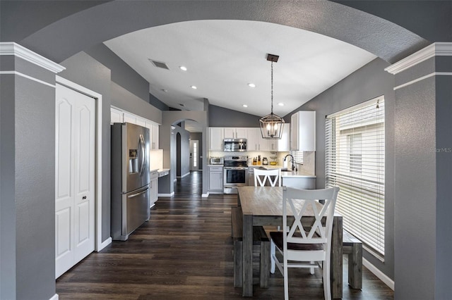
[[[390,63],[429,44],[396,23],[333,1],[109,1],[53,23],[54,19],[43,20],[44,15],[36,15],[38,22],[30,19],[32,13],[24,14],[24,20],[47,26],[31,27],[17,42],[57,62],[129,32],[187,20],[287,25],[340,39]]]

